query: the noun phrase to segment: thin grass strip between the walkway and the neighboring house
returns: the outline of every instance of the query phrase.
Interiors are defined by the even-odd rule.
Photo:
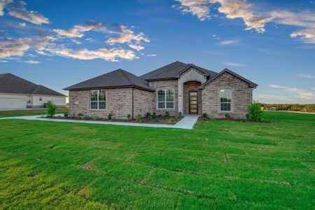
[[[57,108],[56,113],[64,113],[68,108]],[[29,109],[29,110],[13,110],[13,111],[0,111],[0,118],[14,117],[14,116],[34,116],[46,114],[46,109]]]

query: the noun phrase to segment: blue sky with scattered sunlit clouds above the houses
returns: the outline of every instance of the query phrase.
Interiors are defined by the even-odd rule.
[[[315,1],[0,0],[0,73],[64,87],[181,61],[228,68],[263,103],[315,103]]]

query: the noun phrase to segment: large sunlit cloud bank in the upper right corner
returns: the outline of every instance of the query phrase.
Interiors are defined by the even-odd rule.
[[[183,13],[196,15],[200,20],[211,19],[211,9],[218,6],[218,12],[225,18],[241,18],[246,25],[245,30],[254,29],[258,33],[265,32],[267,22],[281,25],[301,27],[290,34],[292,38],[300,38],[304,43],[315,43],[315,13],[309,10],[297,13],[288,10],[263,10],[253,7],[246,0],[176,0],[179,6],[173,6]],[[260,11],[257,10],[260,9]]]

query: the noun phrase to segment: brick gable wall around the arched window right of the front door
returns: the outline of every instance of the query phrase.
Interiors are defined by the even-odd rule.
[[[223,89],[232,90],[232,110],[230,112],[220,110],[220,91]],[[251,101],[252,88],[248,87],[248,83],[230,73],[223,73],[202,90],[202,113],[208,113],[209,116],[216,118],[224,118],[225,113],[229,113],[231,117],[245,117],[247,104],[250,104]]]

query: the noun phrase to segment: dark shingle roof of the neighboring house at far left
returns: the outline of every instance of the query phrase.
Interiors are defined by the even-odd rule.
[[[0,92],[14,94],[43,94],[65,97],[65,95],[60,92],[51,90],[43,85],[36,85],[35,83],[31,83],[29,80],[15,76],[12,73],[0,74]]]

